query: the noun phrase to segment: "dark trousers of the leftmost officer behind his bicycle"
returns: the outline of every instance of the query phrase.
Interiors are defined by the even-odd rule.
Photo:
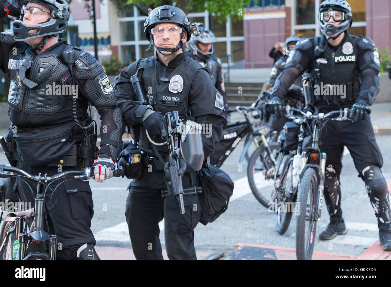
[[[32,175],[38,175],[39,173],[44,175],[47,173],[49,176],[52,176],[59,172],[57,167],[32,167],[27,166],[23,162],[18,162],[17,167]],[[77,166],[63,167],[62,171],[78,169],[80,168]],[[23,180],[31,187],[34,195]],[[23,202],[31,202],[31,205],[34,206],[37,182],[26,177],[23,180],[16,178],[18,193]],[[76,251],[81,245],[84,243],[96,244],[91,231],[91,219],[94,211],[90,185],[86,181],[64,178],[54,181],[49,187],[53,191],[56,187],[57,189],[54,194],[47,189],[45,195],[46,210],[48,212],[48,233],[49,235],[55,234],[58,237],[57,259],[74,260]],[[32,217],[29,218],[31,219],[29,222],[31,225]],[[46,223],[44,224],[44,229],[47,232],[47,225]]]

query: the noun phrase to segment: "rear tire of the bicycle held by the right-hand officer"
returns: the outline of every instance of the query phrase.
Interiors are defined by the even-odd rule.
[[[290,164],[289,164],[289,167],[288,167],[288,171],[287,171],[287,176],[285,177],[285,180],[284,180],[284,184],[283,184],[283,187],[284,189],[293,189],[292,187],[292,164],[293,162],[291,161]],[[287,203],[287,204],[285,204]],[[293,214],[293,211],[292,211],[292,203],[294,204],[294,201],[284,201],[283,202],[283,212],[281,212],[281,207],[278,207],[277,210],[276,210],[276,230],[278,232],[278,234],[282,235],[284,234],[288,227],[289,227],[289,223],[291,223],[291,218],[292,218],[292,214]],[[285,207],[288,207],[288,206],[291,206],[291,208],[289,209],[289,211],[287,209],[285,209]]]

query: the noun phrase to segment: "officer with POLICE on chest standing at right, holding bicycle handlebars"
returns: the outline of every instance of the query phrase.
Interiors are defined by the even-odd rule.
[[[323,35],[297,43],[285,69],[276,79],[269,110],[281,114],[284,91],[307,68],[315,78],[314,87],[318,87],[318,90],[314,89],[314,104],[320,112],[350,108],[349,116],[353,123],[327,121],[321,133],[321,150],[327,154],[324,194],[330,224],[319,239],[327,240],[346,234],[339,182],[343,146],[346,146],[359,176],[365,182],[375,210],[380,243],[384,250],[391,250],[389,196],[386,180],[380,170],[383,158],[367,114],[379,88],[378,52],[371,39],[348,33],[347,29],[352,25],[352,9],[345,0],[322,2],[318,19]],[[341,85],[345,92],[338,95],[330,95],[330,90],[319,92],[319,87],[327,84]]]

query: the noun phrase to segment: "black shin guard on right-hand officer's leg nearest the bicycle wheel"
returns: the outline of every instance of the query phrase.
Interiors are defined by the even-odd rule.
[[[341,205],[341,188],[339,186],[339,180],[335,176],[334,172],[325,172],[325,189],[324,189],[325,201],[330,216],[337,213],[339,206]]]

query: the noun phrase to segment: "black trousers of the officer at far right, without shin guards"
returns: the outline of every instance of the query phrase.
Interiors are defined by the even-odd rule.
[[[342,169],[344,146],[348,148],[355,168],[361,178],[363,178],[362,170],[364,168],[370,165],[381,168],[383,165],[383,157],[376,143],[369,116],[366,116],[366,119],[359,123],[352,123],[351,121],[327,121],[321,131],[321,142],[321,151],[327,155],[326,173],[330,174],[330,178],[331,176],[335,176],[338,181]],[[325,194],[327,203],[328,198],[326,196],[327,194]],[[331,216],[331,220],[342,220],[340,198],[339,204],[335,209],[335,214]],[[378,221],[378,225],[379,227],[382,225],[389,226],[389,223]]]

